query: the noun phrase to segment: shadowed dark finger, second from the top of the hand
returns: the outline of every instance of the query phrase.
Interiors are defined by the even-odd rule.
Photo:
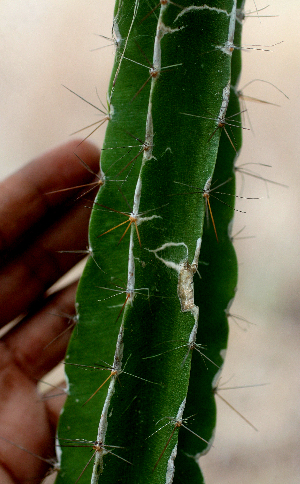
[[[80,201],[0,273],[1,325],[31,305],[85,254],[90,209]],[[75,251],[64,253],[61,251]]]

